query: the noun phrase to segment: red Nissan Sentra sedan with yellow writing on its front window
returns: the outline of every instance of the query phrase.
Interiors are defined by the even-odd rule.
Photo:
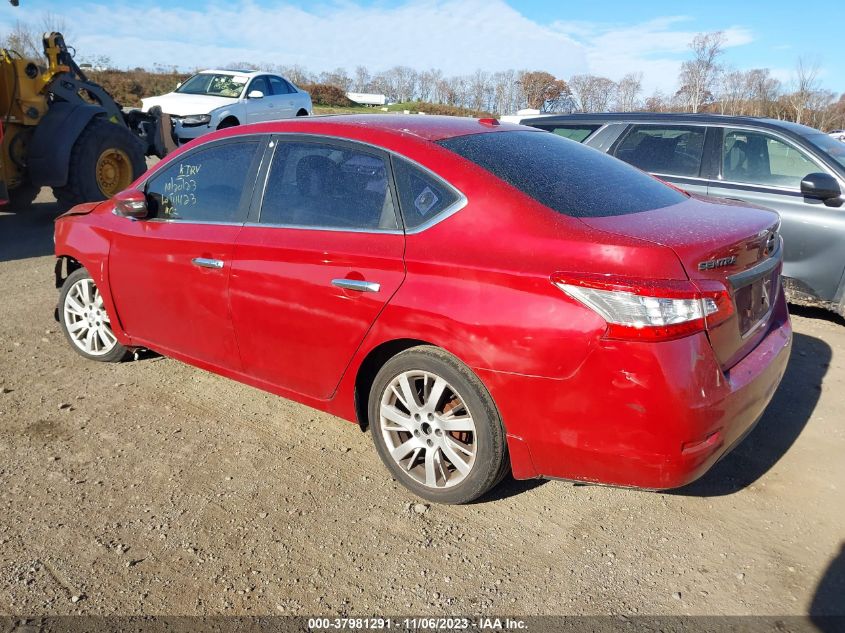
[[[683,486],[792,340],[776,214],[493,120],[210,134],[59,218],[56,256],[86,358],[148,348],[358,422],[442,503],[508,469]]]

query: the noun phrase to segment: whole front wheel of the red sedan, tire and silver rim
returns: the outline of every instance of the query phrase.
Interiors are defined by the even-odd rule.
[[[84,268],[68,275],[62,286],[59,322],[71,347],[85,358],[116,363],[129,355],[112,332],[103,297]]]

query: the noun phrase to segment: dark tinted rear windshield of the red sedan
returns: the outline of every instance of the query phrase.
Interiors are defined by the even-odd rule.
[[[686,200],[635,167],[556,134],[496,132],[439,141],[559,213],[626,215]]]

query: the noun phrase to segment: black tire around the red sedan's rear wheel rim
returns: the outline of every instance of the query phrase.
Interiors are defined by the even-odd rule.
[[[424,456],[426,453],[422,453],[423,462],[419,461],[419,451],[417,453],[411,453],[411,456],[404,465],[397,463],[390,455],[391,449],[384,437],[384,434],[390,434],[390,429],[383,431],[380,410],[383,397],[391,398],[391,382],[405,372],[425,372],[431,377],[439,377],[445,380],[448,383],[447,391],[444,392],[442,399],[439,401],[448,400],[450,396],[458,398],[460,401],[463,401],[465,409],[474,422],[475,430],[471,434],[471,442],[474,444],[476,451],[474,459],[468,472],[454,485],[450,484],[447,487],[445,480],[443,480],[443,485],[439,485],[439,480],[435,480],[433,486],[418,481],[417,476],[419,474],[415,476],[412,474],[412,471],[419,473],[421,467],[424,470],[423,462],[425,461]],[[425,388],[423,385],[422,389],[424,390]],[[455,402],[455,400],[452,400],[452,402]],[[444,405],[437,406],[445,411]],[[448,406],[448,403],[446,406]],[[382,462],[395,479],[423,499],[435,503],[469,503],[496,486],[510,470],[504,426],[502,425],[501,417],[493,399],[469,367],[442,349],[421,345],[405,350],[387,361],[381,370],[379,370],[370,389],[368,413],[369,429],[372,432],[373,442]],[[410,421],[413,416],[410,415],[410,411],[408,414]],[[440,412],[437,415],[446,414]],[[429,420],[431,420],[430,417]],[[389,421],[386,423],[390,424]],[[428,430],[425,430],[424,427],[428,427]],[[420,430],[422,434],[420,434]],[[443,433],[440,428],[435,428],[432,431],[432,427],[425,424],[425,422],[413,434],[419,439],[428,442],[428,446],[432,446],[432,442],[428,441],[426,437],[434,442],[438,442],[439,440],[433,435],[426,434],[434,432],[438,433],[438,437],[443,435],[451,435],[453,438],[458,437],[458,434],[448,431]],[[403,431],[396,436],[401,438],[397,440],[400,442],[413,440],[410,432],[404,433]],[[446,442],[447,439],[443,437],[442,441]],[[427,451],[429,449],[422,447],[422,450]],[[436,456],[438,453],[436,444],[431,450],[433,450]],[[406,453],[407,455],[408,453]],[[444,456],[445,453],[443,452],[439,455],[441,465],[443,464],[442,460]],[[447,462],[447,472],[457,474],[458,469],[452,468],[449,471],[449,466],[450,464]]]

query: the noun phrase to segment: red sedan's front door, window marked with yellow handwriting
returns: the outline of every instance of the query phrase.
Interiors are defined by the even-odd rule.
[[[257,137],[204,145],[146,184],[150,215],[112,235],[110,286],[133,342],[238,368],[228,286],[235,237],[246,219]]]

